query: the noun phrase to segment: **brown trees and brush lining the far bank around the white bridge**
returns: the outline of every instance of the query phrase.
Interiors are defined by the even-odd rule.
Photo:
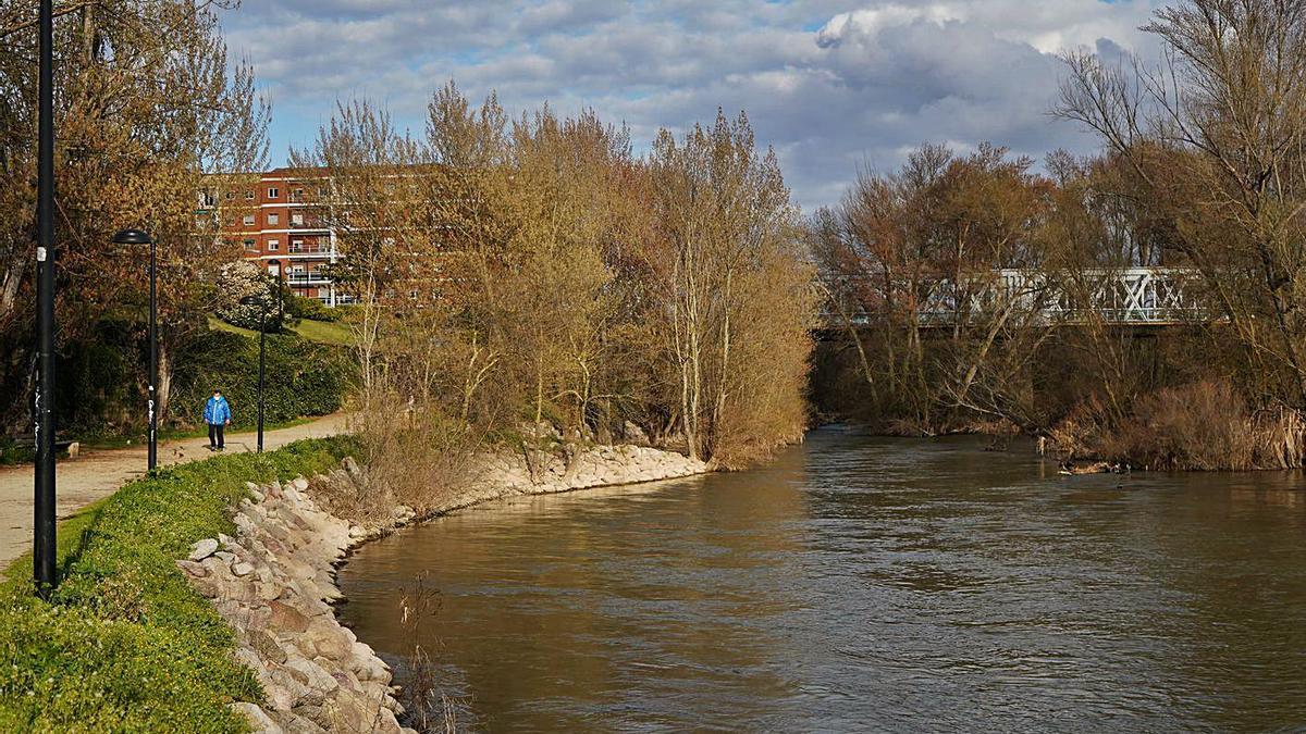
[[[902,432],[1000,423],[1135,465],[1301,465],[1306,5],[1185,0],[1144,30],[1160,67],[1064,59],[1057,114],[1096,131],[1100,155],[1054,153],[1034,172],[1000,148],[925,146],[814,217],[841,333],[818,360],[824,407]],[[1134,265],[1187,269],[1207,317],[1151,330],[1036,317],[1041,299],[1088,302]],[[921,328],[929,287],[965,302],[1002,268],[1043,277],[1020,304]]]

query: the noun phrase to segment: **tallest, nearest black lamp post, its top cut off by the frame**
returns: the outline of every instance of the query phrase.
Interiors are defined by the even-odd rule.
[[[37,94],[37,391],[31,566],[37,593],[55,579],[55,56],[52,0],[40,0]]]

